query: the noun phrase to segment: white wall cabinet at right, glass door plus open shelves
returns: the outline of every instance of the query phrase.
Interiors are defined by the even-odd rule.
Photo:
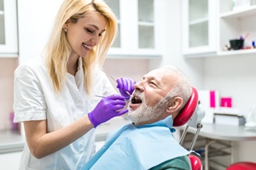
[[[256,4],[234,6],[234,0],[183,0],[183,54],[185,57],[255,54]],[[242,49],[230,48],[230,40],[244,39]]]

